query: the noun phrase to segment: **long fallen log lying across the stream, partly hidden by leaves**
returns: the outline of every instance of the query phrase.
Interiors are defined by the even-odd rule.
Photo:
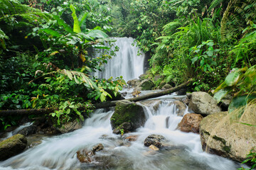
[[[191,79],[184,82],[183,84],[180,84],[174,88],[167,89],[164,91],[158,91],[158,92],[152,92],[150,94],[146,94],[144,96],[134,97],[134,98],[127,98],[119,101],[142,101],[149,98],[156,98],[160,96],[164,96],[166,94],[174,93],[175,91],[179,91],[180,89],[183,89],[184,87],[188,86],[188,84],[191,83]],[[116,106],[117,102],[119,101],[107,101],[103,103],[95,103],[95,108],[109,108],[112,106]],[[6,111],[0,111],[0,116],[8,116],[8,115],[41,115],[46,113],[52,113],[54,111],[53,108],[39,108],[39,109],[18,109],[18,110],[6,110]]]

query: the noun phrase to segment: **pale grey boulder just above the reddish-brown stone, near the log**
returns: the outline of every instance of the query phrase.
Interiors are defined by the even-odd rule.
[[[217,101],[212,96],[206,92],[198,91],[192,93],[188,108],[194,113],[210,115],[221,111],[221,108],[217,104]]]

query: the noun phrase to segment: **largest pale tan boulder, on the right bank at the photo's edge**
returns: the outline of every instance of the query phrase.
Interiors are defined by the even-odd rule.
[[[250,115],[254,121],[255,112],[256,107]],[[201,144],[206,152],[242,162],[256,146],[256,128],[236,122],[230,124],[228,115],[228,112],[220,112],[203,118],[200,123]],[[245,117],[240,121],[249,120]]]

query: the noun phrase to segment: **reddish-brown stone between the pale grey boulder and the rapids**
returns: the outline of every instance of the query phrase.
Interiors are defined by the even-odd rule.
[[[199,133],[199,124],[203,120],[203,116],[196,113],[187,113],[183,116],[180,123],[178,123],[178,130],[182,132]]]

